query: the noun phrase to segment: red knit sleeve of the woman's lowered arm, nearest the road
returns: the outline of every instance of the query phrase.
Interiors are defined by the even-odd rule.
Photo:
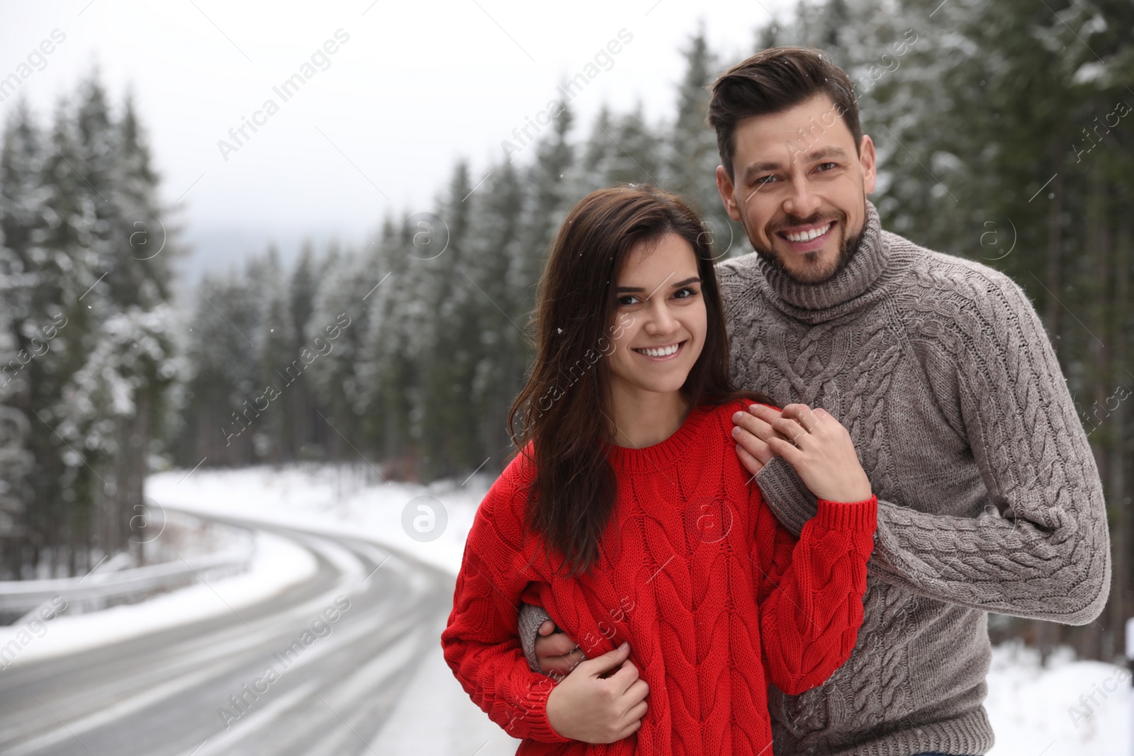
[[[509,467],[476,512],[457,574],[452,612],[441,634],[445,661],[473,702],[514,738],[568,742],[548,722],[551,678],[532,672],[516,632],[527,585],[523,527]]]

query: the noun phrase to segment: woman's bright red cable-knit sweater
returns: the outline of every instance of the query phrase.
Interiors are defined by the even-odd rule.
[[[645,449],[610,448],[618,496],[591,574],[552,576],[524,528],[534,468],[517,456],[476,513],[441,635],[473,700],[522,754],[768,756],[767,688],[798,694],[850,655],[862,623],[878,500],[820,500],[799,541],[741,466],[731,415],[700,407]],[[532,672],[516,618],[543,606],[589,657],[631,644],[650,685],[641,729],[618,742],[560,737],[547,717],[550,678]]]

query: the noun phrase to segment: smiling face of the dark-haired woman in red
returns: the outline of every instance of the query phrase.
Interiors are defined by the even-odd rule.
[[[676,233],[627,256],[615,282],[612,396],[685,383],[705,342],[705,303],[689,243]]]

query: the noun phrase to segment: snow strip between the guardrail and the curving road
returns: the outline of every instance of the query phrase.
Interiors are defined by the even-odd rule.
[[[25,632],[12,664],[59,656],[134,638],[186,622],[239,611],[314,575],[315,559],[287,538],[257,532],[255,555],[247,572],[210,579],[161,594],[137,604],[120,604],[86,614],[66,613],[36,623],[0,627],[0,647]],[[27,642],[27,635],[32,636]]]

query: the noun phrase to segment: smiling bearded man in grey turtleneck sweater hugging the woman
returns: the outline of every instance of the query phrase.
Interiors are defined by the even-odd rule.
[[[756,252],[719,265],[733,381],[833,415],[879,499],[855,651],[818,688],[770,691],[773,750],[984,754],[987,612],[1084,625],[1110,584],[1102,485],[1055,351],[1010,279],[881,230],[874,145],[821,53],[739,63],[709,120],[717,187]],[[816,503],[769,449],[779,415],[738,413],[734,436],[798,533]],[[545,619],[522,612],[525,651],[569,671],[581,652]]]

